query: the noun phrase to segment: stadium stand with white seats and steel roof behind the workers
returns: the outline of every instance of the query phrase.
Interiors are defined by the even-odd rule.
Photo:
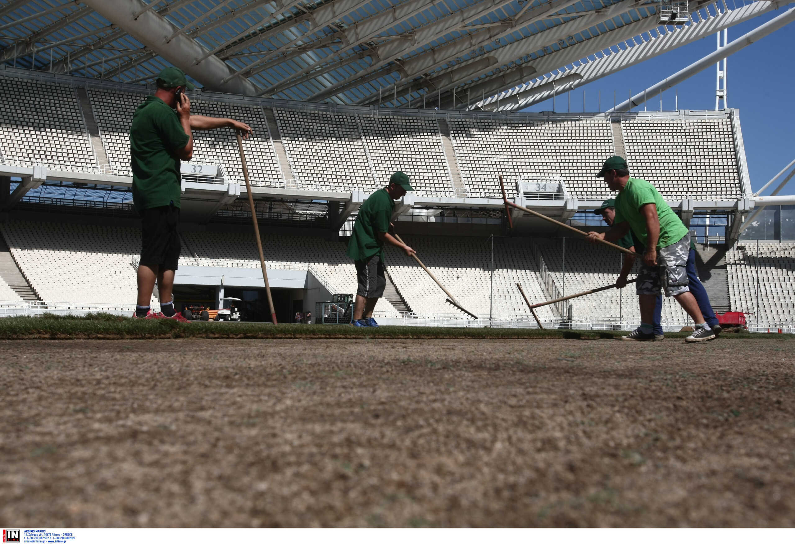
[[[509,229],[499,177],[511,202],[603,230],[591,212],[614,195],[595,173],[619,154],[691,230],[715,310],[795,330],[795,199],[752,190],[739,110],[635,110],[645,95],[597,112],[528,110],[782,6],[6,0],[0,315],[134,310],[130,123],[157,73],[176,66],[196,83],[193,113],[254,130],[242,148],[280,321],[328,317],[335,307],[322,303],[355,292],[345,253],[357,210],[400,170],[416,190],[396,203],[397,232],[477,319],[390,247],[379,322],[537,326],[520,286],[530,303],[602,287],[621,257],[521,210]],[[759,32],[793,18],[782,10]],[[672,153],[686,160],[672,165]],[[269,319],[235,133],[197,133],[182,176],[177,307],[235,297],[245,318]],[[631,287],[537,314],[551,327],[640,319]],[[672,300],[663,322],[690,324]]]

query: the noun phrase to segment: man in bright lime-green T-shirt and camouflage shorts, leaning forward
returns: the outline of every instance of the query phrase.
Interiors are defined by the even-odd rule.
[[[643,262],[635,290],[641,307],[641,326],[629,334],[631,340],[653,340],[654,305],[661,287],[665,296],[673,296],[693,321],[696,330],[685,338],[688,342],[715,339],[715,332],[704,322],[704,316],[689,290],[687,261],[690,233],[677,214],[673,213],[659,191],[644,179],[630,178],[630,170],[620,156],[611,156],[596,175],[603,177],[615,197],[615,218],[607,233],[589,232],[588,237],[619,241],[630,231],[645,245]]]

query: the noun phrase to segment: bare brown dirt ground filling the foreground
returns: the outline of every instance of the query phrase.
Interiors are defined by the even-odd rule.
[[[792,527],[795,341],[0,341],[4,527]]]

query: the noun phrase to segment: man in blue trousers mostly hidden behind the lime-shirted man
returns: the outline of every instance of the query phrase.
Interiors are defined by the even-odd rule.
[[[602,203],[602,206],[594,210],[595,215],[601,215],[604,222],[607,223],[607,226],[613,226],[615,222],[615,199],[607,199]],[[626,234],[625,237],[622,237],[619,241],[615,242],[616,244],[620,245],[622,248],[629,249],[630,251],[634,251],[636,253],[646,253],[646,248],[642,244],[641,241],[638,240],[637,237],[634,236],[632,231]],[[634,255],[627,255],[624,254],[624,262],[621,267],[621,272],[619,272],[619,279],[616,280],[616,288],[621,289],[626,286],[626,276],[629,275],[630,271],[632,270],[632,266],[635,263]],[[693,245],[693,241],[690,241],[690,252],[688,253],[688,262],[686,265],[686,270],[688,274],[688,289],[692,293],[694,297],[696,297],[696,303],[698,303],[698,307],[701,310],[701,314],[704,315],[704,319],[706,320],[707,324],[710,326],[712,331],[717,335],[720,333],[721,327],[718,322],[718,318],[715,317],[715,312],[712,311],[712,304],[709,302],[709,296],[707,295],[707,290],[704,289],[704,285],[701,284],[701,280],[698,277],[698,271],[696,270],[696,246]],[[657,293],[657,296],[654,299],[654,322],[653,322],[653,333],[654,338],[640,338],[639,334],[631,333],[628,336],[622,336],[622,340],[646,340],[646,341],[660,341],[665,340],[665,333],[662,330],[662,295]],[[634,336],[633,336],[634,335]]]

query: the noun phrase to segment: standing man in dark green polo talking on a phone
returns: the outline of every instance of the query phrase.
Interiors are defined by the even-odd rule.
[[[174,272],[180,258],[180,160],[193,156],[193,130],[230,127],[248,137],[251,127],[234,119],[191,115],[184,94],[194,86],[179,68],[157,75],[157,91],[135,110],[130,127],[133,203],[141,215],[142,248],[138,261],[138,305],[134,318],[184,321],[174,310]],[[161,311],[151,311],[157,280]]]

